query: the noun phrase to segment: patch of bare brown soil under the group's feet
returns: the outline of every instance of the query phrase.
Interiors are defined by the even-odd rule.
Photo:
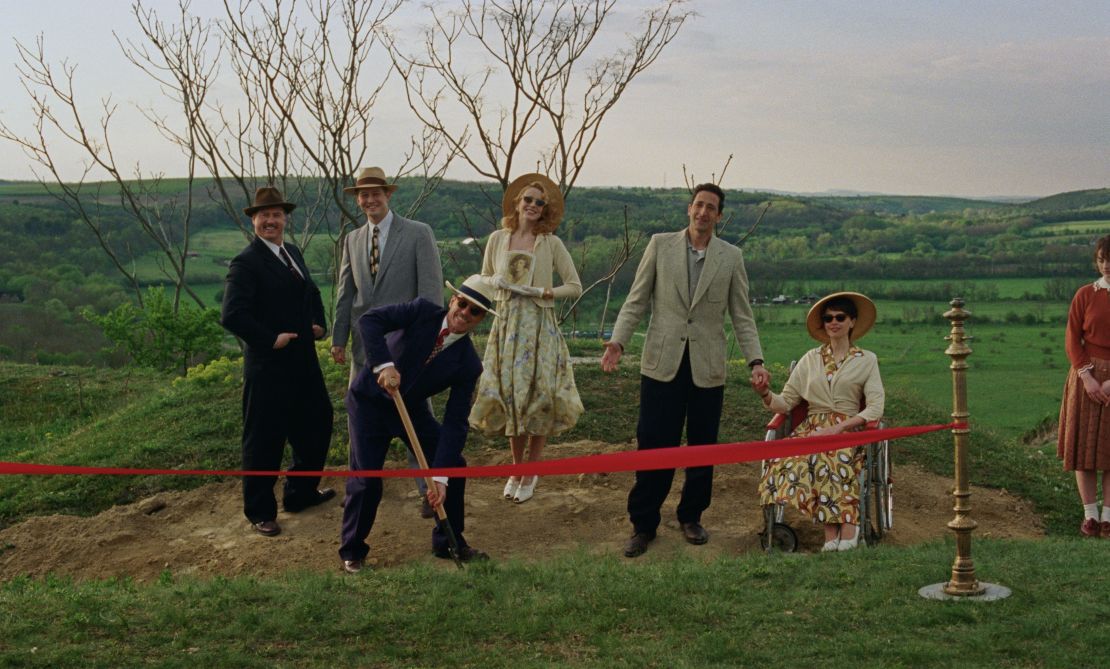
[[[605,453],[626,445],[576,442],[552,445],[552,458]],[[503,457],[468,456],[471,464],[503,464]],[[921,468],[895,465],[895,527],[885,541],[904,546],[935,539],[950,530],[951,480]],[[690,546],[683,539],[674,509],[682,485],[676,474],[664,505],[664,525],[648,553],[638,559],[666,559],[678,554],[712,559],[759,550],[763,516],[757,504],[758,464],[719,466],[714,500],[703,517],[709,543]],[[466,537],[494,559],[543,559],[579,547],[618,555],[630,534],[625,513],[633,474],[541,478],[536,495],[524,504],[502,498],[504,480],[467,482]],[[300,514],[279,514],[282,534],[254,534],[242,515],[239,480],[216,483],[184,493],[163,493],[137,504],[113,507],[93,517],[44,516],[0,531],[0,579],[49,572],[75,578],[157,578],[174,575],[273,575],[289,569],[336,570],[343,478],[322,486],[340,491],[335,501]],[[972,517],[978,537],[1037,538],[1043,529],[1031,506],[1003,490],[973,488]],[[410,479],[385,480],[385,494],[371,533],[369,562],[387,568],[417,560],[442,564],[431,554],[431,520],[418,515],[418,498]],[[820,528],[788,517],[798,531],[799,550],[816,551]]]

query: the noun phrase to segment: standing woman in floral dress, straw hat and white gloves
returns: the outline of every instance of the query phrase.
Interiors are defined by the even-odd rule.
[[[547,438],[578,422],[582,399],[555,300],[582,294],[562,240],[552,234],[563,216],[563,195],[543,174],[525,174],[505,190],[502,230],[486,243],[482,274],[498,286],[500,317],[490,331],[471,425],[508,437],[513,463],[538,460]],[[558,274],[562,285],[554,285]],[[504,496],[532,498],[538,477],[511,477]]]

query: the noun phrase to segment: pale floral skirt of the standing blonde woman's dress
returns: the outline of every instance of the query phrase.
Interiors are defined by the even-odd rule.
[[[497,303],[471,425],[486,434],[551,436],[574,427],[582,399],[555,310],[513,295]]]

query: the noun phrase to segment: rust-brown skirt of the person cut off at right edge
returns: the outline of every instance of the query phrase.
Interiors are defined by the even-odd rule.
[[[1091,374],[1099,383],[1110,378],[1110,361],[1091,358]],[[1110,406],[1087,396],[1076,369],[1068,372],[1060,403],[1060,432],[1056,454],[1068,472],[1110,469]]]

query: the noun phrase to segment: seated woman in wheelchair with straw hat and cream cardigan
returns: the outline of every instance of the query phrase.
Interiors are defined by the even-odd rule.
[[[878,359],[855,344],[874,324],[875,303],[865,295],[827,295],[806,317],[809,335],[821,345],[794,367],[783,394],[773,393],[769,384],[753,383],[771,412],[787,413],[803,402],[809,404],[791,437],[861,429],[882,417]],[[759,482],[760,503],[789,504],[823,523],[823,551],[850,550],[860,538],[861,468],[859,447],[769,460]]]

